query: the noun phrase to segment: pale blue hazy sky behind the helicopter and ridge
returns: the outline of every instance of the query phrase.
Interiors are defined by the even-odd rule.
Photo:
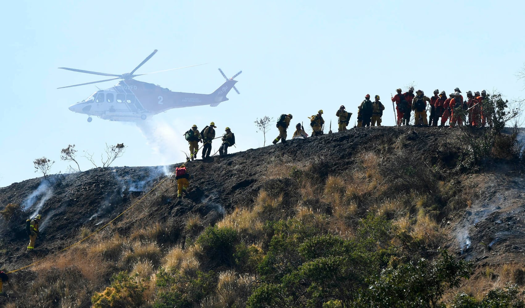
[[[307,116],[322,108],[337,127],[335,112],[344,104],[353,125],[367,93],[381,96],[383,124],[393,125],[390,93],[413,81],[426,94],[458,86],[523,96],[516,73],[525,61],[518,30],[524,9],[517,1],[11,1],[0,21],[0,186],[39,176],[33,160],[42,156],[56,161],[53,173],[66,171],[59,157],[68,144],[79,156],[97,156],[106,142],[124,142],[116,166],[154,166],[182,161],[184,131],[211,120],[219,133],[232,128],[233,151],[262,146],[253,122],[265,115],[291,113],[292,124],[308,127]],[[243,70],[236,78],[241,94],[230,92],[217,107],[171,109],[141,130],[96,117],[88,123],[68,110],[95,85],[56,89],[98,80],[58,67],[120,74],[154,49],[137,73],[208,64],[137,80],[211,93],[224,81],[217,68],[228,76]],[[273,128],[267,139],[276,134]]]

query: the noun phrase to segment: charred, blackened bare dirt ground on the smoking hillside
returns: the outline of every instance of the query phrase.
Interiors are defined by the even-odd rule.
[[[290,140],[288,144],[249,149],[226,157],[196,160],[187,164],[194,177],[191,191],[182,200],[176,199],[174,188],[156,191],[161,195],[162,204],[149,208],[147,213],[144,210],[144,215],[150,221],[171,224],[177,217],[195,211],[205,216],[206,223],[214,223],[235,206],[250,204],[261,188],[276,185],[286,186],[285,199],[293,200],[297,184],[272,179],[269,174],[289,172],[287,166],[291,164],[317,163],[320,176],[326,178],[328,174],[350,168],[356,153],[391,147],[399,138],[403,138],[405,147],[413,153],[414,163],[424,157],[431,164],[453,168],[457,153],[447,148],[446,141],[455,134],[457,130],[449,128],[359,128]],[[164,180],[175,166],[98,168],[55,175],[49,181],[31,179],[1,188],[0,210],[8,203],[18,203],[26,207],[26,211],[14,221],[0,218],[0,241],[4,247],[0,251],[0,264],[13,270],[75,243],[80,227],[94,230],[109,222]],[[449,245],[458,254],[478,261],[492,258],[496,262],[499,255],[507,253],[512,258],[524,259],[525,248],[519,243],[525,232],[524,202],[519,200],[525,200],[525,183],[521,175],[505,178],[504,175],[498,171],[485,175],[486,181],[479,183],[479,190],[484,192],[479,200],[472,203],[465,216],[458,214],[450,218]],[[44,217],[37,254],[27,256],[24,221],[36,212]]]

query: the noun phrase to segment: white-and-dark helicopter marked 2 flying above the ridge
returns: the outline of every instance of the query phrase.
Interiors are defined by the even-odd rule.
[[[157,52],[155,49],[148,57],[144,59],[136,68],[129,73],[123,74],[108,74],[101,72],[85,71],[71,68],[59,68],[68,71],[95,74],[102,76],[111,76],[113,78],[92,81],[68,86],[61,86],[57,89],[64,89],[66,87],[93,84],[111,80],[121,79],[116,85],[109,89],[99,89],[97,92],[91,94],[85,100],[75,103],[69,106],[69,110],[76,113],[82,113],[88,115],[88,122],[92,121],[91,116],[98,116],[101,119],[107,119],[112,121],[137,121],[145,120],[152,115],[165,112],[173,108],[184,108],[193,106],[210,105],[212,107],[218,104],[228,101],[226,97],[228,92],[232,89],[240,94],[234,80],[240,73],[233,75],[232,78],[227,78],[224,72],[219,69],[219,72],[223,75],[226,80],[217,90],[210,94],[199,94],[199,93],[185,93],[185,92],[173,92],[170,89],[161,87],[153,83],[147,83],[142,81],[134,80],[137,76],[172,71],[178,69],[184,69],[189,67],[195,67],[197,65],[190,65],[187,67],[145,73],[145,74],[134,74],[144,63],[153,57]]]

